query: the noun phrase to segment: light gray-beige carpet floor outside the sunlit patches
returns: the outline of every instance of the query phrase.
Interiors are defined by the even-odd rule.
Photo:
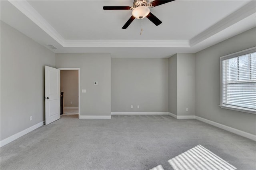
[[[83,113],[82,113],[83,114]],[[149,170],[201,144],[239,170],[255,170],[255,142],[168,115],[62,115],[1,147],[1,170]]]

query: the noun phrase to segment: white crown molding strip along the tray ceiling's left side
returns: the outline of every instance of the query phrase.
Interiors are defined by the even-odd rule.
[[[44,30],[56,42],[61,45],[64,38],[26,1],[26,0],[8,0],[20,12],[27,16],[32,22]]]

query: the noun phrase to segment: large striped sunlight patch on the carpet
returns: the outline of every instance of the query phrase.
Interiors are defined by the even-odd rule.
[[[236,170],[200,144],[168,160],[174,170]]]

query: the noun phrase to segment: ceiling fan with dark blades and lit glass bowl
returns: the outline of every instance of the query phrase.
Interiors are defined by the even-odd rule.
[[[132,23],[132,21],[135,18],[143,19],[145,17],[148,18],[151,22],[153,22],[156,26],[158,26],[162,23],[162,21],[160,21],[158,18],[156,18],[156,16],[154,16],[150,12],[150,8],[166,4],[172,1],[174,0],[154,0],[152,2],[148,2],[148,0],[134,0],[133,6],[103,6],[103,10],[132,10],[132,16],[124,24],[122,29],[128,28],[128,26]]]

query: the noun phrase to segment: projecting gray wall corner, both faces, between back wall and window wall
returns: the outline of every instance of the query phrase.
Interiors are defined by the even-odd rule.
[[[169,58],[169,112],[174,115],[195,115],[195,62],[195,54],[189,53]]]

